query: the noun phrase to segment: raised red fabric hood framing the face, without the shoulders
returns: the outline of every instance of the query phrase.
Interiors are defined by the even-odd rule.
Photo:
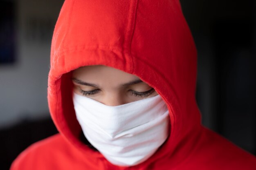
[[[160,159],[180,163],[191,153],[201,129],[196,63],[195,44],[178,0],[65,0],[52,38],[48,79],[54,124],[85,158],[103,160],[79,140],[71,71],[88,65],[117,68],[155,88],[170,114],[168,139],[137,166]]]

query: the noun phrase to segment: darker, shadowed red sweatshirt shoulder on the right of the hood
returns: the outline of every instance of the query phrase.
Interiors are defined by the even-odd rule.
[[[189,169],[199,166],[208,170],[256,170],[256,157],[216,132],[203,128],[193,154],[184,164]]]

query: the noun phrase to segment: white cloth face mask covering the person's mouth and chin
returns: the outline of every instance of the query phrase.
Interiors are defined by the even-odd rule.
[[[168,108],[160,95],[107,106],[74,93],[73,102],[85,137],[114,165],[145,161],[168,137]]]

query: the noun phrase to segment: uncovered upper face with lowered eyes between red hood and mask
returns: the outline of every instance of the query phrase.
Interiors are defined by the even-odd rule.
[[[157,95],[139,77],[108,66],[84,66],[73,71],[74,92],[108,106],[118,106]]]

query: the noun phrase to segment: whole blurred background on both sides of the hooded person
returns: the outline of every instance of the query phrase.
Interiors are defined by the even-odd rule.
[[[1,170],[8,170],[30,144],[57,133],[47,107],[47,75],[52,31],[62,4],[0,0],[0,7],[10,8],[0,13],[0,42],[9,36],[12,43],[10,60],[0,56],[5,57],[0,62]],[[202,124],[256,155],[256,1],[181,4],[198,49],[196,97]],[[6,19],[13,28],[3,34]],[[3,51],[7,45],[1,43]]]

